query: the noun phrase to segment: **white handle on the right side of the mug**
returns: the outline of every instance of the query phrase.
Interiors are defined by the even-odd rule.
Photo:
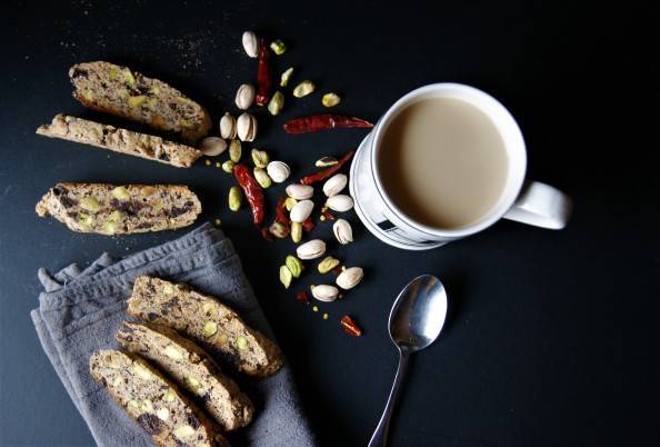
[[[528,181],[504,218],[534,227],[560,230],[573,208],[570,197],[540,181]]]

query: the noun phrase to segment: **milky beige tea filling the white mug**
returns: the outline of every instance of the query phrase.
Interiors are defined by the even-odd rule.
[[[437,229],[478,224],[498,203],[509,176],[504,141],[481,109],[456,98],[408,105],[384,129],[378,169],[392,202]]]

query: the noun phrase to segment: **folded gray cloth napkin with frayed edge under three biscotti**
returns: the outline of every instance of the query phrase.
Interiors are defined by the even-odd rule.
[[[231,241],[206,224],[180,239],[113,259],[103,254],[88,268],[76,264],[54,275],[39,270],[44,291],[31,317],[46,355],[99,446],[150,446],[151,438],[89,374],[89,357],[116,348],[114,332],[127,319],[126,300],[140,275],[187,282],[219,297],[252,327],[273,338],[243,275]],[[288,365],[274,376],[249,379],[230,374],[257,408],[252,424],[229,435],[232,445],[313,446]]]

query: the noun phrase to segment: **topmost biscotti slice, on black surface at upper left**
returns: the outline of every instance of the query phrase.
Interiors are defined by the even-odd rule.
[[[207,110],[173,87],[128,67],[96,61],[69,70],[73,98],[90,109],[143,122],[197,141],[211,128]]]

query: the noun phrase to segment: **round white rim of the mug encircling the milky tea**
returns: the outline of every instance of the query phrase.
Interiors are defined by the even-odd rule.
[[[459,92],[459,93],[462,93],[463,96],[473,98],[474,100],[480,101],[481,103],[484,103],[486,106],[488,106],[488,108],[491,111],[494,111],[498,115],[499,120],[496,120],[493,118],[492,112],[484,110],[486,106],[480,107],[474,103],[472,103],[472,105],[476,107],[479,107],[480,110],[482,110],[484,113],[487,113],[489,116],[489,118],[491,118],[491,120],[493,120],[493,123],[498,128],[498,131],[500,132],[502,138],[504,138],[504,135],[503,135],[504,131],[502,128],[506,125],[506,127],[507,127],[506,130],[507,130],[507,133],[509,137],[507,139],[507,140],[509,140],[509,142],[504,145],[507,152],[509,155],[509,176],[507,178],[507,185],[504,186],[502,196],[500,197],[497,205],[493,206],[493,208],[490,210],[490,212],[484,218],[480,219],[478,222],[476,222],[473,225],[470,225],[467,227],[454,228],[454,229],[440,229],[440,228],[430,227],[428,225],[424,225],[424,224],[411,218],[406,212],[403,212],[396,203],[392,202],[389,195],[387,193],[387,190],[383,187],[383,183],[381,181],[379,167],[378,167],[378,152],[379,152],[379,148],[381,146],[380,142],[382,140],[383,132],[387,129],[387,125],[392,120],[392,118],[394,118],[409,103],[411,103],[418,99],[421,99],[423,97],[430,97],[431,96],[430,93],[439,93],[439,92],[440,93],[442,93],[442,92],[444,92],[444,93]],[[419,231],[426,232],[426,234],[428,234],[430,236],[434,236],[434,237],[459,238],[459,237],[463,237],[463,236],[473,235],[473,234],[479,232],[479,231],[490,227],[491,225],[493,225],[511,208],[511,206],[516,201],[516,198],[518,197],[518,195],[522,188],[522,183],[524,181],[524,175],[527,171],[527,149],[526,149],[526,145],[524,145],[524,139],[522,137],[522,131],[520,130],[520,127],[518,126],[518,122],[516,121],[516,119],[513,118],[511,112],[509,112],[509,110],[492,96],[490,96],[487,92],[479,90],[474,87],[470,87],[470,86],[467,86],[463,83],[457,83],[457,82],[431,83],[428,86],[417,88],[417,89],[408,92],[403,97],[399,98],[399,100],[397,100],[397,102],[394,102],[387,110],[387,112],[378,120],[378,122],[373,129],[373,141],[371,145],[372,145],[372,150],[371,150],[371,155],[370,155],[370,163],[373,167],[373,169],[372,169],[373,180],[376,182],[376,187],[377,187],[381,198],[383,199],[383,202],[386,203],[386,206],[388,208],[390,208],[390,210],[393,213],[396,213],[402,220],[408,222],[408,225],[417,228]],[[512,152],[514,152],[514,153],[512,153]],[[511,160],[512,155],[516,156],[514,160]],[[512,170],[511,169],[512,167],[517,167],[517,169]]]

